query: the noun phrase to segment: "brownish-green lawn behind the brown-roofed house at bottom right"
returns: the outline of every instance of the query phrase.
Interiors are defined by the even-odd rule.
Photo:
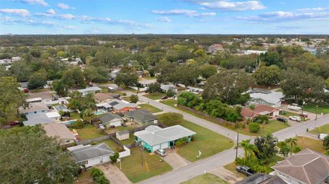
[[[311,150],[315,150],[319,153],[324,153],[324,145],[321,140],[315,140],[308,137],[301,137],[297,136],[295,137],[297,139],[297,146],[300,146],[300,148],[309,148]]]

